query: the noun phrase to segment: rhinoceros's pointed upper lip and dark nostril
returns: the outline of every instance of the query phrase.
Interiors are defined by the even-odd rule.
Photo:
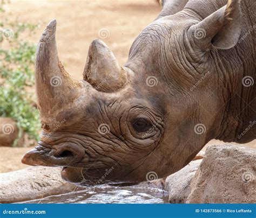
[[[79,163],[84,157],[84,150],[73,143],[56,145],[49,148],[38,144],[22,159],[23,164],[31,166],[70,166]]]

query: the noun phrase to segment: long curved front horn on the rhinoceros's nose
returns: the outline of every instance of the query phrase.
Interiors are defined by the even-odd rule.
[[[52,20],[39,40],[35,61],[35,83],[41,118],[52,117],[78,96],[80,83],[72,79],[58,59],[56,20]]]

